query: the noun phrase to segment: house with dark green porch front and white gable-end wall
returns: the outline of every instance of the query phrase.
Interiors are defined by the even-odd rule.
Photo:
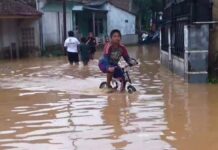
[[[114,28],[120,29],[123,35],[135,34],[136,16],[130,8],[130,2],[129,0],[100,0],[90,1],[85,5],[77,4],[73,7],[76,15],[75,24],[81,28],[84,35],[90,31],[96,36],[109,35]]]

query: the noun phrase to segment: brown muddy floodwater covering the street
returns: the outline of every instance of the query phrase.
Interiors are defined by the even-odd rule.
[[[0,150],[218,150],[218,85],[184,83],[158,47],[129,51],[132,95],[99,90],[97,60],[0,62]]]

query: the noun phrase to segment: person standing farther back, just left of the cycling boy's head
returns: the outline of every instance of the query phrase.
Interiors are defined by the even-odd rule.
[[[89,33],[89,37],[88,37],[86,44],[90,48],[90,59],[94,59],[97,42],[96,42],[96,39],[95,39],[94,34],[92,32]]]

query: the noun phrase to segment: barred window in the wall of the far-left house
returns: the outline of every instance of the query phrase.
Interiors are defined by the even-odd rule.
[[[35,46],[34,28],[23,28],[21,30],[22,46],[24,48],[31,48]]]

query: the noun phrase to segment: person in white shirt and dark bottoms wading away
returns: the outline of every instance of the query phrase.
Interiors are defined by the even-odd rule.
[[[64,47],[67,49],[68,60],[71,65],[79,64],[78,46],[80,42],[74,37],[74,32],[68,32],[68,38],[64,42]]]

